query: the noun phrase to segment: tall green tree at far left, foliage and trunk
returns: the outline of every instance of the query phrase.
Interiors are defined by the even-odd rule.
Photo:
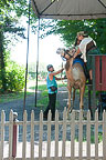
[[[31,10],[31,16],[33,14]],[[1,89],[7,90],[7,50],[8,44],[18,37],[25,38],[23,28],[20,24],[20,18],[29,16],[29,3],[26,0],[2,0],[0,1],[0,83]],[[31,23],[35,22],[34,14]]]

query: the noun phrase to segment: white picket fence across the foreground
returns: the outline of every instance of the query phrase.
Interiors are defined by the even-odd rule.
[[[103,113],[103,120],[98,120],[98,112],[95,112],[95,120],[91,120],[91,112],[87,111],[84,117],[81,110],[71,113],[70,120],[66,118],[66,109],[63,112],[63,119],[59,119],[59,111],[55,112],[55,121],[51,121],[51,111],[47,120],[43,120],[43,112],[40,113],[40,120],[34,120],[34,111],[31,113],[31,121],[26,119],[26,111],[23,114],[23,121],[13,122],[13,111],[10,112],[9,121],[4,119],[4,111],[1,112],[0,122],[0,160],[13,159],[13,149],[17,147],[15,160],[106,160],[106,112]],[[22,126],[22,141],[17,139],[13,144],[13,127]],[[31,140],[26,141],[26,128],[31,127]],[[35,141],[35,126],[39,127],[39,140]],[[44,127],[46,126],[46,141],[43,141]],[[60,126],[62,139],[60,140]],[[86,140],[84,137],[84,126]],[[98,128],[102,127],[103,139],[98,141]],[[6,127],[9,128],[9,141],[4,140]],[[54,127],[55,138],[52,139],[52,127]],[[75,129],[78,131],[78,140],[75,140]],[[91,143],[91,131],[94,128],[95,142]],[[70,130],[70,133],[67,132]],[[19,131],[18,131],[19,132]],[[71,140],[67,140],[67,136]],[[15,141],[15,140],[14,140]],[[15,152],[15,151],[14,151]]]

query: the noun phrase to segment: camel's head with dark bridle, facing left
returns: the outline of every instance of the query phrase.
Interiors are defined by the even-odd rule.
[[[65,58],[66,60],[73,58],[75,53],[75,48],[70,48],[70,49],[64,49],[64,48],[59,48],[56,50],[56,53],[61,54],[62,58]]]

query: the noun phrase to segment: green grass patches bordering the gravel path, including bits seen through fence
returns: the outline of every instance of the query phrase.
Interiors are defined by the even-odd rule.
[[[62,82],[57,82],[59,88],[61,87],[66,87],[66,83],[62,83]],[[41,91],[40,93],[40,99],[38,99],[38,107],[41,108],[41,110],[46,108],[47,101],[49,101],[49,97],[47,97],[47,89],[46,89],[46,83],[39,83],[38,86],[38,90]],[[33,94],[33,92],[35,92],[35,82],[30,82],[30,84],[28,84],[28,92],[26,96],[31,96]],[[77,90],[78,92],[78,90]],[[87,91],[87,87],[85,89],[85,97],[87,97],[88,91]],[[4,93],[4,94],[0,94],[0,103],[3,102],[9,102],[9,101],[13,101],[13,100],[18,100],[18,99],[23,99],[24,98],[24,91],[21,92],[15,92],[15,93]],[[77,137],[75,138],[76,141],[78,141]],[[86,141],[86,138],[83,137],[83,141]],[[99,132],[98,133],[98,142],[103,141],[103,133]],[[93,133],[91,133],[91,143],[95,142],[95,136]]]

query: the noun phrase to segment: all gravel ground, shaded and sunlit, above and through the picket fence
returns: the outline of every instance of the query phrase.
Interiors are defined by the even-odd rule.
[[[59,110],[60,120],[63,117],[63,110],[64,107],[66,107],[67,103],[67,89],[66,87],[59,88],[57,92],[57,103],[56,109]],[[41,93],[38,93],[38,99],[41,99]],[[31,120],[31,111],[34,110],[35,112],[35,120],[39,120],[39,114],[41,109],[34,107],[35,97],[29,96],[26,98],[26,112],[28,112],[28,120]],[[76,93],[74,109],[80,110],[80,96]],[[1,110],[4,110],[6,112],[6,120],[9,120],[9,113],[10,110],[13,110],[14,112],[18,112],[18,119],[22,120],[22,113],[23,113],[23,100],[14,100],[11,102],[6,102],[0,104],[0,112]],[[88,109],[88,99],[84,98],[84,110]],[[9,153],[9,127],[6,127],[6,133],[4,133],[4,157],[8,157]],[[22,157],[22,126],[19,127],[19,142],[17,148],[17,157]],[[39,156],[39,126],[34,127],[34,156]],[[62,133],[63,133],[63,127],[59,126],[59,149],[60,149],[60,157],[62,156]],[[94,134],[94,129],[93,129]],[[83,138],[86,138],[86,126],[83,128]],[[78,139],[78,126],[75,127],[75,139]],[[31,140],[31,128],[28,126],[26,128],[26,157],[30,157],[30,140]],[[46,140],[47,140],[47,127],[43,127],[43,151],[42,156],[45,157],[46,153]],[[54,146],[55,146],[55,128],[54,126],[51,127],[51,156],[54,156]],[[71,126],[67,126],[66,128],[66,156],[70,157],[71,154]],[[95,144],[91,144],[91,154],[95,156]],[[21,152],[20,152],[21,151]],[[103,156],[103,143],[100,142],[98,144],[98,154]],[[75,156],[78,156],[78,142],[75,141]],[[86,156],[86,142],[83,142],[83,156]]]

